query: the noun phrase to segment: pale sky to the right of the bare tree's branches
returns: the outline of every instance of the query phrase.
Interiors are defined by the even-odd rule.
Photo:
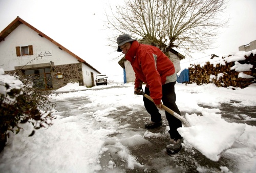
[[[195,63],[196,59],[200,61],[207,59],[209,57],[205,57],[207,55],[216,54],[222,56],[239,51],[238,48],[240,46],[256,40],[255,7],[255,0],[229,0],[226,9],[226,15],[230,17],[229,27],[221,29],[214,44],[217,48],[205,51],[205,53],[192,54],[193,59],[186,58],[181,61],[181,68],[187,67],[189,63]]]

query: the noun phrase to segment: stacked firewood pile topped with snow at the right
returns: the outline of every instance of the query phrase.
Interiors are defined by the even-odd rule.
[[[222,57],[224,58],[224,57]],[[206,62],[204,66],[200,64],[190,64],[189,83],[197,83],[198,85],[206,83],[215,83],[218,87],[239,87],[246,88],[248,85],[256,82],[256,54],[245,55],[246,60],[237,61],[240,64],[250,64],[248,71],[236,71],[232,68],[236,65],[235,61],[219,64],[211,64]],[[243,74],[240,74],[243,73]],[[240,75],[239,75],[240,74]],[[243,77],[250,75],[249,77]],[[242,77],[241,77],[242,76]]]

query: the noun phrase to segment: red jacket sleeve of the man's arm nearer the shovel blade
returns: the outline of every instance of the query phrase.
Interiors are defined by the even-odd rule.
[[[141,68],[146,76],[146,81],[150,87],[150,96],[155,104],[161,104],[162,82],[157,71],[157,55],[152,50],[146,50],[141,56]]]

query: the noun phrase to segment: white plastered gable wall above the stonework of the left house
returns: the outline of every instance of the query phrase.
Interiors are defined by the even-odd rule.
[[[16,55],[16,46],[33,46],[34,55],[18,56]],[[51,51],[51,57],[37,57],[37,53],[40,51]],[[0,59],[2,68],[5,71],[14,70],[15,66],[24,66],[29,64],[46,63],[50,61],[54,62],[55,66],[61,64],[77,63],[77,59],[68,54],[67,52],[60,50],[56,45],[50,42],[45,37],[40,37],[37,32],[30,29],[26,25],[20,24],[11,34],[9,34],[4,41],[0,42]]]

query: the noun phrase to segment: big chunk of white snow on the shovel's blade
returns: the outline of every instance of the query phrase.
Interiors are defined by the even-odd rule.
[[[203,116],[186,114],[186,119],[192,126],[179,128],[178,132],[208,159],[218,161],[221,153],[240,138],[245,124],[228,123],[216,113],[204,111],[202,114]]]

